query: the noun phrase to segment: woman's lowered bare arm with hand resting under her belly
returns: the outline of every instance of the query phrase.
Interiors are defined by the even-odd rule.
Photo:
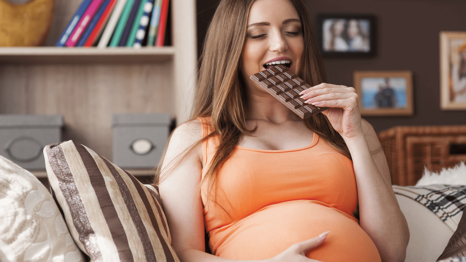
[[[165,154],[158,188],[170,229],[171,246],[181,262],[235,262],[238,260],[205,252],[204,210],[199,186],[202,172],[201,147],[196,147],[176,165],[185,150],[201,139],[201,136],[199,121],[181,124],[173,132]],[[318,262],[308,259],[304,253],[320,245],[326,237],[325,234],[323,237],[317,236],[296,243],[264,262]]]

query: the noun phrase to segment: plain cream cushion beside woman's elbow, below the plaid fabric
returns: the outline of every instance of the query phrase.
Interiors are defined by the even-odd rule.
[[[410,232],[404,262],[437,261],[453,235],[452,229],[417,201],[398,194],[396,196]]]

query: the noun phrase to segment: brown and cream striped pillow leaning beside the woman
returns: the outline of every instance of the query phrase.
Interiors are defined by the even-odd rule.
[[[155,188],[71,140],[44,155],[70,233],[91,262],[179,262]]]

